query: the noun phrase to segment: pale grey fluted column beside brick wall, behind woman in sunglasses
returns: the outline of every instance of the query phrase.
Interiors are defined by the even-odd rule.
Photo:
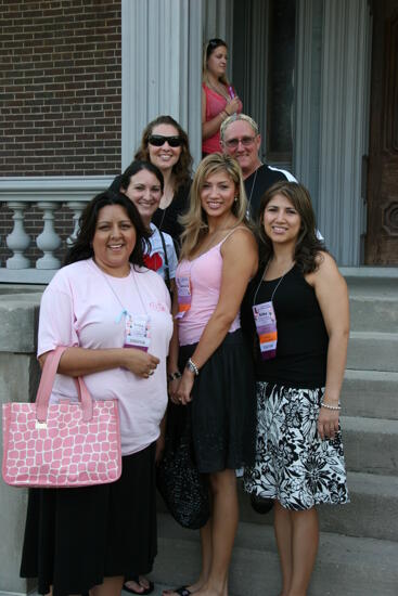
[[[121,167],[143,128],[168,114],[201,158],[203,0],[121,0]]]

